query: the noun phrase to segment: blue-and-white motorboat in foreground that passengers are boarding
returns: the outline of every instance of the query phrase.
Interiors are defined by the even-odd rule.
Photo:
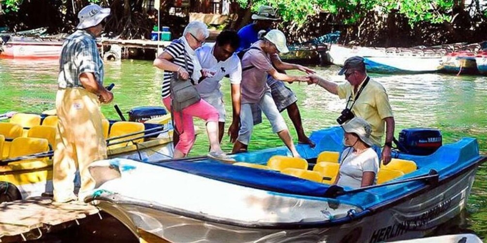
[[[332,127],[312,134],[314,149],[297,149],[313,164],[323,151],[341,151],[342,138],[343,130]],[[279,147],[232,156],[265,167],[276,155],[285,161],[290,152]],[[101,160],[90,166],[96,189],[85,201],[137,236],[142,229],[169,242],[396,241],[423,237],[465,209],[477,168],[486,160],[472,138],[429,156],[393,157],[413,161],[414,168],[359,190],[208,158]]]

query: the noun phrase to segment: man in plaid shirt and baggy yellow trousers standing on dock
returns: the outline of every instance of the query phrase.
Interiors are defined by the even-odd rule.
[[[103,62],[95,38],[104,29],[109,8],[91,4],[79,11],[76,31],[63,43],[56,94],[57,124],[53,185],[55,203],[76,200],[74,178],[81,175],[77,199],[83,201],[94,188],[88,165],[107,157],[100,103],[113,94],[103,87]]]

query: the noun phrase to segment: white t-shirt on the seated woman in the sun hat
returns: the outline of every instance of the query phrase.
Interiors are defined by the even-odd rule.
[[[375,177],[377,177],[379,157],[374,149],[368,148],[356,155],[354,154],[354,148],[350,147],[345,149],[341,156],[342,161],[339,170],[340,179],[337,182],[338,186],[360,188],[362,185],[362,174],[367,171],[374,172]],[[376,179],[374,180],[375,183]]]

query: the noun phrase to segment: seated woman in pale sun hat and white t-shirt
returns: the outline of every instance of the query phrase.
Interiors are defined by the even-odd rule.
[[[371,146],[372,128],[369,122],[355,117],[341,125],[345,134],[343,143],[349,146],[343,150],[340,170],[335,184],[342,187],[360,188],[375,184],[379,171],[379,158]]]

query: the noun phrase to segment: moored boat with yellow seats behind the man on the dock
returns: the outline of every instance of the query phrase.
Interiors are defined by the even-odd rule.
[[[103,120],[108,157],[141,161],[171,158],[172,125],[165,109],[141,107],[131,112],[132,121]],[[56,122],[54,115],[26,113],[15,114],[8,123],[0,122],[0,182],[16,189],[13,199],[52,191]]]

